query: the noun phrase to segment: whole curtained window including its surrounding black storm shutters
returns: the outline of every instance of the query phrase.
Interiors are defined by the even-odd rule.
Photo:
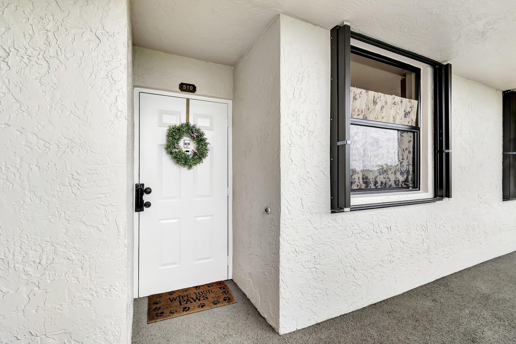
[[[352,39],[365,44],[351,44]],[[352,32],[349,25],[333,28],[331,40],[332,212],[449,198],[451,66]],[[422,70],[418,65],[426,70],[425,104],[432,103],[425,107],[423,137],[433,150],[430,146],[430,153],[424,155]],[[429,117],[433,123],[428,122]],[[434,133],[429,137],[431,127]],[[422,156],[428,161],[422,163]],[[432,185],[433,190],[418,199],[422,167],[432,169],[432,173],[423,172],[427,182],[432,176],[433,183],[425,185],[427,189]],[[414,196],[396,199],[397,194],[408,193]],[[367,194],[382,202],[352,204],[353,197]]]

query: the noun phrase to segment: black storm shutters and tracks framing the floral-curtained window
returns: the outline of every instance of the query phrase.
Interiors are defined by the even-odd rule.
[[[349,25],[335,26],[331,29],[331,102],[330,102],[330,185],[331,212],[374,209],[441,201],[451,198],[451,64],[409,52],[394,45],[376,40],[351,31]],[[434,197],[429,199],[383,202],[373,204],[351,205],[350,180],[350,54],[351,39],[377,46],[383,50],[411,58],[433,67],[434,104]],[[363,49],[361,49],[363,51]],[[368,52],[368,54],[375,54]],[[379,54],[376,54],[379,55]],[[377,56],[378,58],[378,56]],[[382,57],[390,59],[388,57]],[[390,59],[393,60],[393,59]],[[398,61],[399,63],[402,63]],[[418,92],[421,92],[419,90]],[[421,113],[419,111],[418,113]],[[420,116],[418,116],[419,121]],[[367,121],[375,122],[375,121]],[[357,124],[357,121],[353,120]],[[419,124],[419,122],[417,123]],[[417,140],[418,141],[418,140]],[[338,142],[338,144],[337,144]],[[419,155],[417,155],[419,156]],[[420,161],[417,161],[420,166]],[[418,175],[418,173],[416,174]],[[398,190],[397,190],[398,191]],[[407,190],[408,191],[408,190]]]

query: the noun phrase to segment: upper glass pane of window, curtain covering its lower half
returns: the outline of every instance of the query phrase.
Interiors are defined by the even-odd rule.
[[[351,54],[351,117],[416,125],[416,73]]]

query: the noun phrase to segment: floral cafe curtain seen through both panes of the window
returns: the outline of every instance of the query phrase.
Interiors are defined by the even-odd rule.
[[[417,101],[351,87],[351,117],[415,125]],[[412,132],[351,126],[351,189],[414,186]]]

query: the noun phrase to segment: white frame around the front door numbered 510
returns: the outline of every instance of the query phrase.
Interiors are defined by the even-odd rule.
[[[132,211],[134,211],[134,184],[139,183],[139,167],[140,167],[140,145],[138,142],[140,141],[140,97],[139,93],[152,93],[152,94],[160,94],[160,95],[168,95],[179,98],[189,98],[193,100],[200,101],[208,101],[215,103],[228,104],[228,279],[233,278],[233,157],[232,157],[232,101],[226,99],[218,99],[205,97],[194,94],[186,94],[186,93],[177,93],[177,92],[168,92],[168,91],[160,91],[150,88],[142,88],[135,87],[134,88],[134,179],[132,184],[132,199],[133,199],[133,207]],[[133,257],[133,265],[134,265],[134,298],[138,298],[138,283],[139,283],[139,217],[136,214],[134,216],[134,257]]]

